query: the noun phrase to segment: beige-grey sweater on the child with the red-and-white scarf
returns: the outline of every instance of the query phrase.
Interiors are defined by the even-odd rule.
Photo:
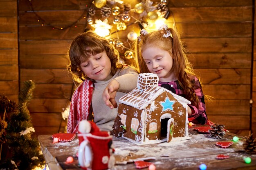
[[[119,99],[126,93],[132,91],[137,85],[138,73],[130,66],[117,70],[116,74],[108,81],[96,81],[94,83],[94,92],[92,94],[92,109],[94,113],[94,122],[101,131],[112,131],[114,120],[117,117],[117,108],[110,109],[105,105],[102,98],[103,90],[112,80],[119,82],[119,89],[115,100],[117,104]]]

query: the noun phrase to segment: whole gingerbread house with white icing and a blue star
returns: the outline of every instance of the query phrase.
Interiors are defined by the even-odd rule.
[[[112,134],[136,144],[188,136],[187,108],[191,102],[159,87],[158,80],[156,74],[139,74],[137,87],[119,100]]]

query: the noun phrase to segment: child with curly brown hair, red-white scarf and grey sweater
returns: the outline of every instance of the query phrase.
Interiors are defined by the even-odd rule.
[[[88,120],[92,112],[97,126],[111,131],[117,116],[116,101],[136,87],[137,71],[118,63],[119,54],[114,46],[93,32],[75,37],[68,56],[68,71],[82,83],[71,99],[67,133],[77,133],[78,123]]]

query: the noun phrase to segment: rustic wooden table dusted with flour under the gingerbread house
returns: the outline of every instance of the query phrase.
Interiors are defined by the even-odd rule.
[[[193,126],[194,128],[194,126]],[[151,160],[156,170],[198,170],[201,163],[207,165],[207,170],[256,170],[256,155],[246,154],[243,150],[244,138],[234,142],[229,148],[216,146],[218,141],[231,141],[235,134],[226,133],[224,139],[212,139],[209,135],[200,134],[189,128],[191,139],[171,141],[170,143],[136,145],[123,138],[113,137],[116,160],[127,161],[125,165],[116,165],[113,170],[136,169],[131,159],[155,157]],[[52,144],[51,135],[38,136],[41,150],[50,170],[82,170],[78,166],[76,153],[79,140],[76,137],[71,142]],[[228,155],[229,159],[216,159],[219,154]],[[73,156],[74,162],[65,163],[67,157]],[[243,157],[251,157],[252,162],[246,164]],[[146,169],[146,168],[145,168]]]

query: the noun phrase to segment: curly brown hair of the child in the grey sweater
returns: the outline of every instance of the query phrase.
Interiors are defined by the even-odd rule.
[[[111,62],[110,74],[114,75],[117,69],[123,67],[118,62],[119,53],[115,47],[107,39],[91,31],[77,35],[70,44],[67,54],[69,60],[67,70],[72,74],[72,78],[78,82],[84,81],[85,79],[94,81],[84,74],[80,64],[86,61],[91,55],[101,53],[104,50]]]

